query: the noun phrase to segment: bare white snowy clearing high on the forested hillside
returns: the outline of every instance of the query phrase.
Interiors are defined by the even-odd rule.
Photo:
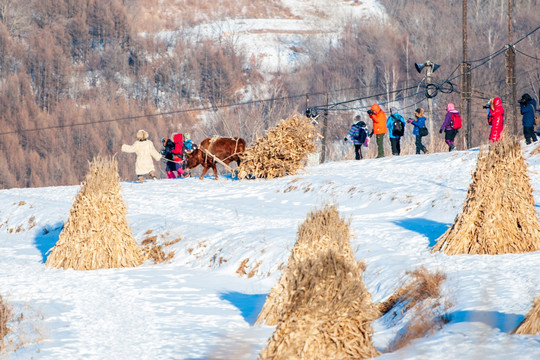
[[[295,69],[311,52],[336,44],[349,21],[383,21],[385,9],[377,0],[326,1],[282,0],[289,18],[238,18],[203,23],[188,31],[192,39],[226,42],[246,54],[265,74]],[[163,39],[174,42],[186,30],[164,31]],[[181,35],[180,35],[181,34]]]

